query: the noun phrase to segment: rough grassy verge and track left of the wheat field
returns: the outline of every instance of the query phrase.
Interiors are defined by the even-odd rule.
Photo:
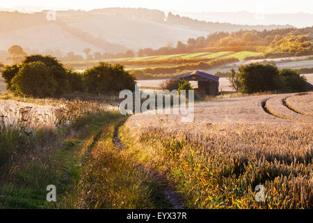
[[[118,107],[91,98],[0,100],[0,208],[171,207],[135,154],[114,144]],[[49,184],[56,203],[45,200]]]

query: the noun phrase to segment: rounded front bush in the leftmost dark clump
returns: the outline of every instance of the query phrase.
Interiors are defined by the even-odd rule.
[[[40,61],[24,63],[11,80],[11,88],[17,95],[51,97],[56,93],[56,85],[51,70]]]

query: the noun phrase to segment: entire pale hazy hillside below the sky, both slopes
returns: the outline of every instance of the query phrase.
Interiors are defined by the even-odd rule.
[[[10,22],[8,22],[10,21]],[[262,30],[289,26],[244,26],[201,22],[188,17],[145,8],[104,8],[56,12],[56,21],[48,21],[46,12],[0,12],[0,50],[21,45],[34,52],[91,53],[125,52],[127,49],[157,49],[177,41],[207,36],[216,31]],[[59,56],[59,55],[58,55]]]

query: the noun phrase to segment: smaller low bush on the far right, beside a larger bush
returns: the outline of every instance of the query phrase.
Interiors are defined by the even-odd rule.
[[[307,91],[307,79],[300,76],[296,70],[280,70],[277,85],[279,86],[279,89],[284,92]]]

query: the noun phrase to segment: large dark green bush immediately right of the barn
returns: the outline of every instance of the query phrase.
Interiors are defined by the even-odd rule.
[[[239,66],[240,91],[242,93],[256,93],[277,89],[279,70],[275,64],[250,63]]]

